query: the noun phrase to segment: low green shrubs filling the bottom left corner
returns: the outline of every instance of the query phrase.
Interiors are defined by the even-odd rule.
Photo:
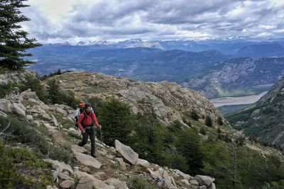
[[[30,149],[0,142],[0,188],[45,188],[53,183],[50,168]]]

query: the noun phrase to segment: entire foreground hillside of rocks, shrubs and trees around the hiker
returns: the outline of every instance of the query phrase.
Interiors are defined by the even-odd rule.
[[[43,81],[26,71],[8,72],[0,78],[5,94],[0,99],[4,188],[282,185],[281,152],[244,138],[197,91],[168,82],[144,83],[86,72]],[[102,124],[102,132],[97,130],[96,159],[86,155],[89,144],[77,146],[80,132],[72,122],[74,109],[70,107],[78,102],[76,98],[92,102]],[[136,151],[140,163],[129,163],[129,157],[119,152],[120,144],[111,147],[115,139]],[[131,158],[137,157],[134,151]]]

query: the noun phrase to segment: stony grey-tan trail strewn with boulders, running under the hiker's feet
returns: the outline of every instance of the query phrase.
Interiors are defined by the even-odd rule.
[[[90,156],[90,144],[79,147],[80,132],[72,123],[74,109],[67,105],[45,105],[31,90],[14,93],[0,99],[0,113],[16,114],[35,127],[44,126],[52,136],[53,145],[69,145],[75,157],[72,165],[53,159],[45,159],[52,164],[55,188],[131,188],[131,178],[141,178],[156,188],[215,188],[214,178],[190,176],[177,169],[151,164],[139,159],[131,147],[118,140],[115,147],[109,147],[96,139],[97,158]],[[67,127],[66,122],[72,127]],[[72,137],[70,137],[72,136]]]

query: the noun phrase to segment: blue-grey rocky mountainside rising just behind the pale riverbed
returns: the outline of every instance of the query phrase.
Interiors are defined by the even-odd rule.
[[[216,64],[181,85],[207,98],[246,96],[268,91],[284,74],[284,58],[239,58]]]

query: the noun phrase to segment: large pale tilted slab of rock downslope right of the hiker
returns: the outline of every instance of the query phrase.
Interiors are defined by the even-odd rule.
[[[131,147],[126,146],[119,142],[119,140],[114,141],[114,146],[118,154],[127,162],[135,165],[138,161],[138,154],[131,149]]]

